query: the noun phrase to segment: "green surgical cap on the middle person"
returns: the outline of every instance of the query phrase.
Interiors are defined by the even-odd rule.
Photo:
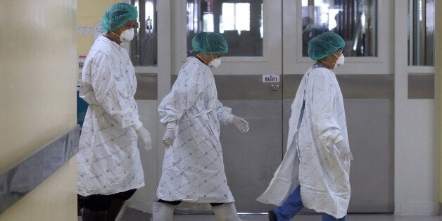
[[[216,32],[196,34],[192,39],[192,48],[205,54],[225,54],[229,51],[226,39]]]

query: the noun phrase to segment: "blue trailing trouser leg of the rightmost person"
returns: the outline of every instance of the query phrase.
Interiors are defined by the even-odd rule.
[[[273,210],[278,221],[289,221],[304,207],[301,201],[301,186],[296,187],[295,191],[286,198],[286,201]]]

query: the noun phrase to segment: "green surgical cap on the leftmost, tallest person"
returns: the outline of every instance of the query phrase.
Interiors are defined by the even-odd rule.
[[[138,17],[137,8],[127,3],[117,3],[110,6],[101,19],[101,28],[106,31],[117,30],[130,20]]]

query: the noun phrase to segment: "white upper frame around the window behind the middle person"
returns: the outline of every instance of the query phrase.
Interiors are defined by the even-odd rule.
[[[186,0],[172,3],[172,10],[179,8],[172,13],[172,72],[175,74],[187,59],[186,4]],[[263,56],[223,57],[222,65],[213,71],[214,75],[282,75],[282,15],[274,11],[282,11],[282,0],[263,0]],[[244,67],[247,67],[246,71]]]

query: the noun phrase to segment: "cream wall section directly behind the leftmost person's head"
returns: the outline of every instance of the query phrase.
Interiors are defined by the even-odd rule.
[[[118,0],[77,0],[77,26],[94,27],[101,22],[103,13]],[[77,34],[77,53],[87,55],[94,43],[94,34]]]

